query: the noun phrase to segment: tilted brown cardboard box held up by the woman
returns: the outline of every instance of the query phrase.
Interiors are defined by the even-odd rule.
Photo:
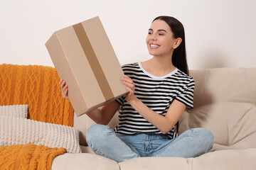
[[[127,94],[124,75],[99,17],[58,30],[46,47],[76,115]]]

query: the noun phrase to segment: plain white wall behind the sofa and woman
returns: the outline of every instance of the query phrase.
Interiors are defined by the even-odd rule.
[[[159,15],[186,30],[189,69],[256,67],[255,0],[1,0],[0,64],[53,66],[55,31],[100,16],[120,64],[148,60],[145,38]]]

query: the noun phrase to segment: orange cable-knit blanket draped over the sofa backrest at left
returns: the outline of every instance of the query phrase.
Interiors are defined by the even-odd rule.
[[[73,126],[73,107],[63,98],[53,67],[0,64],[0,106],[28,104],[28,118]]]

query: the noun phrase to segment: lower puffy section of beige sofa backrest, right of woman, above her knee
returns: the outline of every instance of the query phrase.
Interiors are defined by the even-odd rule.
[[[181,121],[183,128],[207,128],[213,132],[215,144],[230,149],[256,147],[255,103],[211,103],[194,108],[184,116],[188,118]]]

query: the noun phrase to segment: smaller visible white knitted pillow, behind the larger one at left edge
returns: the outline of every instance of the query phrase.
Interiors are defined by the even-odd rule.
[[[28,105],[0,106],[0,115],[17,118],[28,118]]]

